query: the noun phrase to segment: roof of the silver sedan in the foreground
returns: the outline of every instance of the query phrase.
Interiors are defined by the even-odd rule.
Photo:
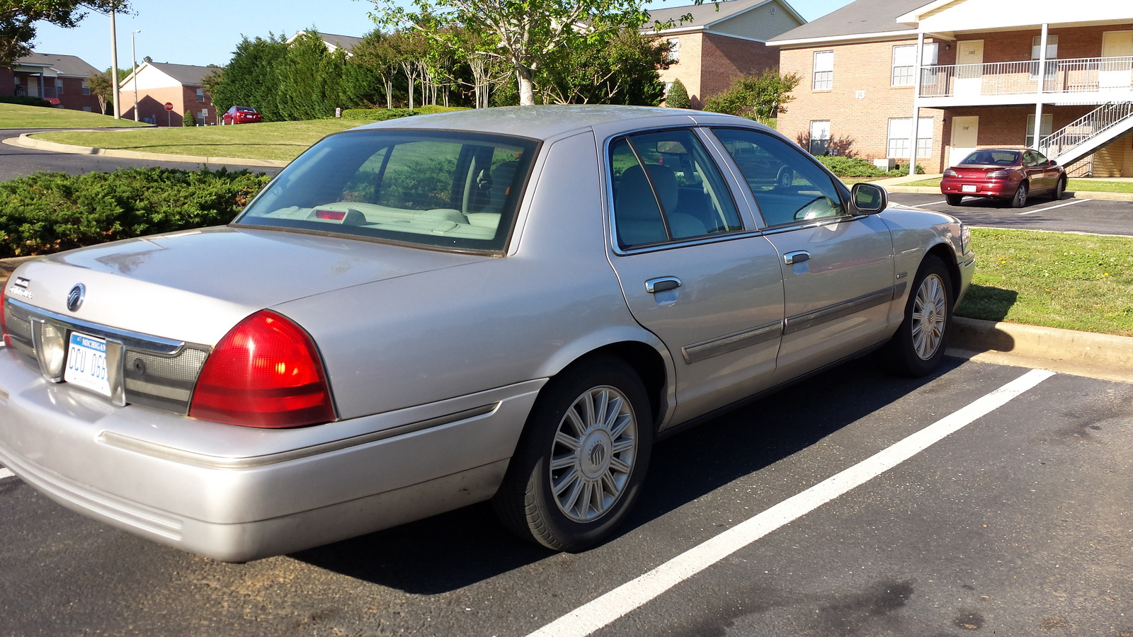
[[[658,107],[616,107],[598,104],[556,104],[537,107],[496,107],[399,118],[359,126],[375,128],[417,128],[479,130],[550,139],[580,129],[696,124],[746,124],[751,120],[704,111]]]

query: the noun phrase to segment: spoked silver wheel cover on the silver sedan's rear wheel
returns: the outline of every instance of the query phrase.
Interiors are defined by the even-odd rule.
[[[574,399],[551,449],[551,494],[564,516],[590,523],[617,502],[637,459],[637,418],[625,396],[600,385]]]

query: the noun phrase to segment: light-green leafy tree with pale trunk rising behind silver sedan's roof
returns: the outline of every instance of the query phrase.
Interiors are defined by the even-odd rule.
[[[397,0],[372,0],[380,24],[414,28],[433,39],[452,40],[436,25],[459,25],[484,34],[485,46],[465,51],[497,56],[516,73],[519,103],[535,103],[535,75],[555,51],[600,41],[648,19],[640,0],[412,0],[417,14]]]

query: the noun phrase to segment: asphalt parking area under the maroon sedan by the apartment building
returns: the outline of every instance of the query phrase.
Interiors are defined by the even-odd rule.
[[[1085,197],[1085,195],[1082,195]],[[1133,235],[1133,202],[1073,198],[1059,202],[1036,197],[1026,207],[1004,207],[990,199],[966,198],[948,205],[942,195],[893,193],[889,198],[925,210],[947,212],[972,226],[1055,230],[1099,235]]]

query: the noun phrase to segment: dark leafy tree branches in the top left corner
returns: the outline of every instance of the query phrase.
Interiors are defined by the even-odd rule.
[[[78,26],[86,17],[82,8],[95,11],[123,12],[129,6],[122,0],[6,0],[0,2],[0,67],[32,52],[37,22],[48,22],[63,28]]]

